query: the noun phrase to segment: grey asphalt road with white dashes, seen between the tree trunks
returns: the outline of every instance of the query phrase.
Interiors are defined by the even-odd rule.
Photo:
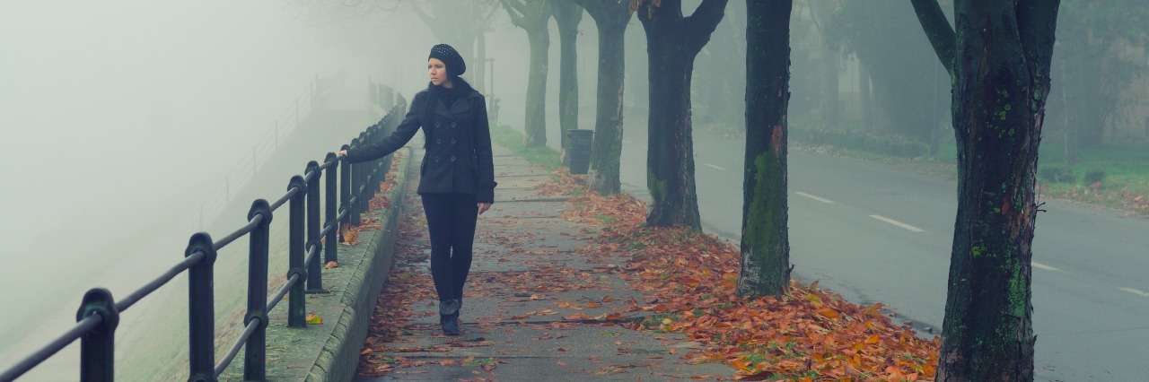
[[[646,128],[629,124],[623,187],[646,192]],[[743,142],[696,134],[704,228],[738,240]],[[789,154],[795,276],[940,334],[956,182],[861,161]],[[1149,372],[1149,220],[1044,200],[1033,242],[1039,381],[1143,381]],[[925,334],[928,335],[928,334]]]

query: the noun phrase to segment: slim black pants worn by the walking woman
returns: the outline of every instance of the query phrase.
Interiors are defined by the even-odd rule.
[[[424,194],[431,236],[431,278],[439,301],[463,298],[479,208],[471,194]]]

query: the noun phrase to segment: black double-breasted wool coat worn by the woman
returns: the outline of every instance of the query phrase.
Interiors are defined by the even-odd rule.
[[[473,194],[479,203],[494,203],[498,184],[491,158],[486,99],[470,89],[448,109],[427,92],[424,89],[415,94],[407,116],[394,133],[378,143],[348,149],[347,161],[373,161],[394,153],[407,145],[422,126],[426,154],[419,166],[418,193]],[[429,100],[434,100],[434,104]],[[426,108],[432,108],[431,112],[426,112]]]

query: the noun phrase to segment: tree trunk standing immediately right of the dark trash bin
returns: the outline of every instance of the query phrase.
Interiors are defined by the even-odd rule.
[[[623,89],[626,70],[626,25],[630,2],[573,0],[583,6],[599,28],[599,80],[595,99],[594,142],[588,184],[600,195],[616,195],[623,155]]]

